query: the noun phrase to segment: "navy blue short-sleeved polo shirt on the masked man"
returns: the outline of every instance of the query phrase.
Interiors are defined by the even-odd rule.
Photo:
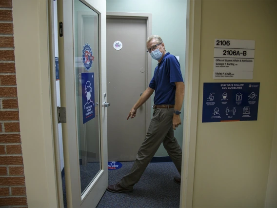
[[[175,104],[175,82],[184,82],[177,58],[166,53],[155,68],[149,87],[155,89],[154,104]]]

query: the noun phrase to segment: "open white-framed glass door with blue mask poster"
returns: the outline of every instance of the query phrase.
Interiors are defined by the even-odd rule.
[[[67,207],[96,207],[108,186],[105,10],[105,1],[58,0]]]

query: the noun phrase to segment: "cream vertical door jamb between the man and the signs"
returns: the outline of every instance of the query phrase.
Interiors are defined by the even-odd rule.
[[[180,208],[192,208],[198,121],[202,0],[187,0],[183,155]]]

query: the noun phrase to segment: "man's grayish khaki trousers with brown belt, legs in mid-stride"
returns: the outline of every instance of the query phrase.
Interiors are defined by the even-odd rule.
[[[119,182],[121,187],[133,190],[141,175],[162,143],[173,163],[181,173],[182,149],[174,137],[172,126],[174,109],[155,109],[146,138],[139,148],[137,159],[129,172]]]

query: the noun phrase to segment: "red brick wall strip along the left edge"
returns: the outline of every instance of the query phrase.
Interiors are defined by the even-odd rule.
[[[0,0],[0,207],[27,207],[17,100],[12,0]]]

